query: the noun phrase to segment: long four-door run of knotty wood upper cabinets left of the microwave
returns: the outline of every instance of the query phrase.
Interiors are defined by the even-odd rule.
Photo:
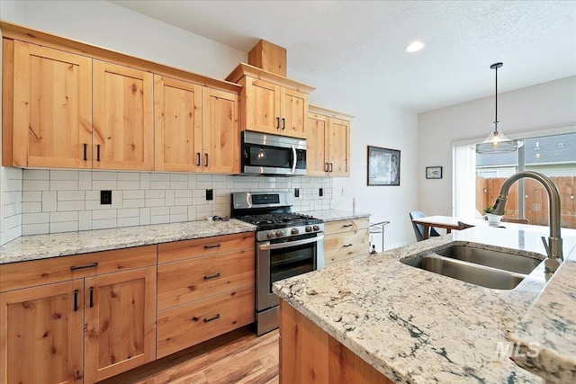
[[[4,166],[239,172],[239,85],[0,28]]]

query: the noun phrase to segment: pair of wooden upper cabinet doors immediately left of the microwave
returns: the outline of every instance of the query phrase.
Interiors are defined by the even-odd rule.
[[[155,76],[157,171],[239,171],[238,94]]]

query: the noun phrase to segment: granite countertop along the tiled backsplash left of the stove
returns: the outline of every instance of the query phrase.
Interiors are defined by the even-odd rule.
[[[0,264],[87,254],[128,248],[130,246],[149,246],[171,241],[230,235],[254,230],[256,230],[256,227],[251,224],[237,219],[229,219],[228,221],[188,221],[184,223],[23,236],[15,238],[4,246],[0,246]]]

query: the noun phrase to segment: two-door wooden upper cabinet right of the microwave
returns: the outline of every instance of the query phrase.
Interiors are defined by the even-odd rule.
[[[344,113],[311,106],[306,140],[306,174],[350,175],[351,118]]]

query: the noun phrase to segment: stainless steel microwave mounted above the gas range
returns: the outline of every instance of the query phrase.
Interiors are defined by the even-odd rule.
[[[243,131],[242,173],[306,174],[306,140]]]

